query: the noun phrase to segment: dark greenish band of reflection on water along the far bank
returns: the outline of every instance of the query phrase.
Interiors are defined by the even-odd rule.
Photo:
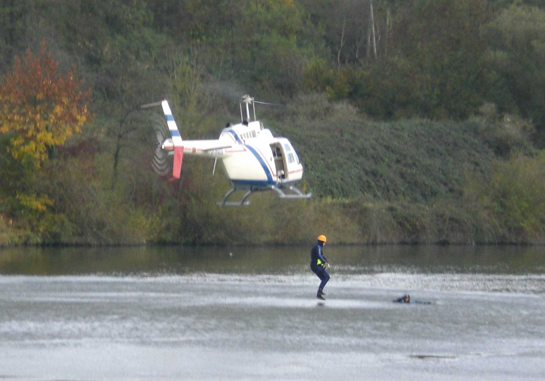
[[[307,271],[310,247],[15,247],[0,249],[0,274],[291,274]],[[543,274],[544,246],[328,246],[337,273]]]

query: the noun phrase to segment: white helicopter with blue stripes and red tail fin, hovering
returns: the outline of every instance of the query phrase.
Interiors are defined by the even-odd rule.
[[[227,123],[219,138],[209,140],[183,140],[167,100],[141,106],[161,106],[166,118],[166,126],[165,119],[161,124],[155,125],[157,145],[152,162],[154,171],[159,176],[168,176],[172,171],[171,179],[179,179],[183,156],[196,155],[215,159],[212,171],[214,176],[217,161],[220,160],[232,186],[222,201],[217,202],[221,206],[249,205],[247,198],[252,193],[269,190],[276,192],[282,199],[310,198],[312,193],[302,193],[294,186],[300,182],[303,174],[299,156],[287,138],[272,136],[271,131],[256,119],[256,103],[264,102],[254,101],[247,94],[242,96],[241,122],[234,125]],[[250,105],[253,109],[253,120]],[[246,191],[242,199],[228,201],[238,190]]]

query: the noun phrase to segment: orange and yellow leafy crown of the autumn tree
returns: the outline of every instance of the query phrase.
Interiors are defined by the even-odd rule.
[[[30,49],[25,58],[15,57],[13,71],[0,87],[0,132],[13,135],[9,152],[15,159],[30,156],[40,165],[47,148],[64,144],[90,119],[87,103],[90,89],[75,78],[75,68],[60,74],[58,64],[45,53],[45,40],[38,56]]]

